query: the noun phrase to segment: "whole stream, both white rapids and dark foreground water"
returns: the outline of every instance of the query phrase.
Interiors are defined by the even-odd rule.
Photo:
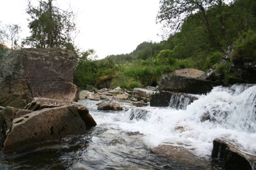
[[[135,108],[123,101],[124,111],[98,111],[97,101],[80,100],[95,128],[37,150],[1,154],[0,169],[218,169],[209,160],[212,141],[219,137],[256,154],[256,85],[215,87],[198,97],[185,110]],[[202,162],[156,155],[151,148],[160,144],[185,148]]]

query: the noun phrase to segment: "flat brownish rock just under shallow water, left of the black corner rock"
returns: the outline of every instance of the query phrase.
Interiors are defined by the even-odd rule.
[[[169,159],[175,160],[179,162],[181,165],[207,165],[210,164],[210,161],[205,158],[199,158],[192,152],[186,150],[182,147],[176,147],[171,145],[159,145],[157,147],[153,147],[152,151],[154,154],[161,155],[163,157],[167,157]]]

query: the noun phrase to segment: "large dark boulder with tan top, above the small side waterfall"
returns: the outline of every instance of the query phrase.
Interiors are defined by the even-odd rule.
[[[199,77],[203,74],[204,72],[198,72],[195,69],[164,74],[161,77],[158,89],[180,93],[206,94],[218,83],[210,80],[200,80]]]

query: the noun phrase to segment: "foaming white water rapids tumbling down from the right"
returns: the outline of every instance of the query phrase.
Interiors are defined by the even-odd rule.
[[[139,119],[130,120],[131,112],[135,117],[138,113]],[[200,157],[210,157],[212,141],[225,137],[256,153],[255,85],[215,87],[186,110],[143,107],[130,109],[124,116],[110,114],[104,119],[93,116],[98,125],[143,134],[148,147],[170,144],[187,148]],[[210,120],[202,122],[203,116]],[[177,127],[182,127],[184,132]]]

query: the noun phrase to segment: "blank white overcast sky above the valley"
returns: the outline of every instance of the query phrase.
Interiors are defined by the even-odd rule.
[[[19,24],[23,30],[21,38],[28,36],[27,1],[0,1],[1,25]],[[161,34],[161,25],[155,24],[159,0],[57,0],[57,4],[64,9],[70,4],[78,12],[76,24],[80,33],[75,45],[96,50],[99,59],[130,53],[144,41],[161,41],[157,36]]]

